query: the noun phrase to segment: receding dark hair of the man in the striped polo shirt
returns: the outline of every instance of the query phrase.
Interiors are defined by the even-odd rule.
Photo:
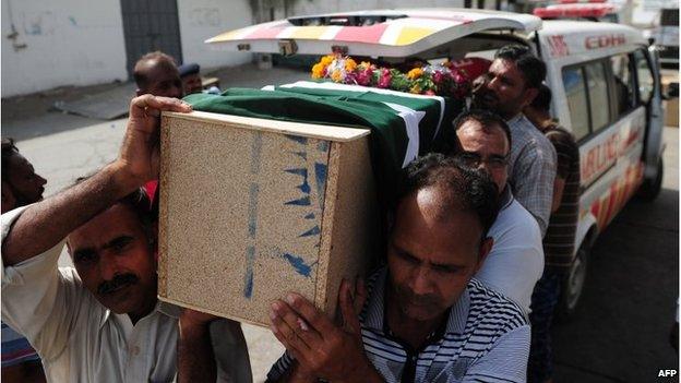
[[[442,187],[444,195],[443,214],[458,211],[473,213],[487,237],[497,214],[498,193],[494,182],[485,172],[466,169],[454,158],[431,153],[411,161],[404,171],[404,183],[398,201],[429,187]]]

